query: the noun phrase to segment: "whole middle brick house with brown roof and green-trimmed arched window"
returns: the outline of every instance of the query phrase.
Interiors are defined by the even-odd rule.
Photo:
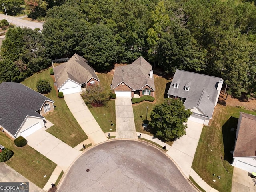
[[[152,66],[140,57],[130,65],[116,67],[111,90],[117,97],[154,97]]]

